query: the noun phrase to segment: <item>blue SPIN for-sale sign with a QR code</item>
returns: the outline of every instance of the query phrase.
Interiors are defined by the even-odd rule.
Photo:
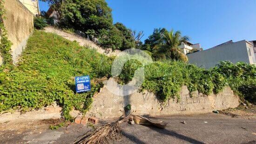
[[[91,91],[89,76],[75,77],[74,79],[75,79],[75,89],[77,93]]]

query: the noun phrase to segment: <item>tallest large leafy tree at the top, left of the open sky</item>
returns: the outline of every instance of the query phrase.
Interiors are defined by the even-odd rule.
[[[94,30],[99,33],[101,29],[111,29],[111,11],[105,0],[65,0],[62,25],[82,32]]]

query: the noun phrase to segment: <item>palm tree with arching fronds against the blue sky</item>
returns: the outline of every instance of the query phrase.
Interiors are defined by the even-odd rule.
[[[164,45],[160,49],[161,52],[165,53],[168,59],[188,61],[188,57],[178,47],[182,42],[189,41],[188,36],[183,36],[180,31],[174,31],[173,29],[163,33]]]

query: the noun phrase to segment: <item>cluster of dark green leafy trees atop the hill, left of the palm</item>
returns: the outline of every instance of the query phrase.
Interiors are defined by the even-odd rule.
[[[122,23],[113,25],[112,10],[105,0],[42,0],[57,11],[56,19],[61,29],[80,30],[91,38],[98,38],[98,44],[113,50],[135,48],[136,40],[132,30]]]

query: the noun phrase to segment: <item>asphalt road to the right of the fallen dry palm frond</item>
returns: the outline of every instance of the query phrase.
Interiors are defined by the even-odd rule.
[[[166,129],[123,124],[120,144],[256,144],[256,120],[231,118],[221,114],[172,116],[159,118],[168,122]],[[187,124],[182,124],[185,121]]]

